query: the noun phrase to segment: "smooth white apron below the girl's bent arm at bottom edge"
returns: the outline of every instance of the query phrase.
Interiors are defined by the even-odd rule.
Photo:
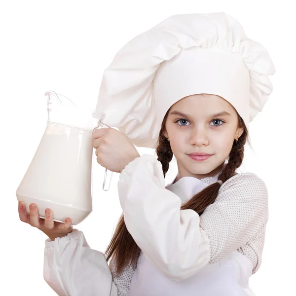
[[[163,275],[141,252],[129,296],[255,296],[248,285],[252,268],[247,257],[234,251],[193,276],[174,281]]]

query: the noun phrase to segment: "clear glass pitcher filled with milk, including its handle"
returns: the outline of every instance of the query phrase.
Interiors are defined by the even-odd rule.
[[[44,219],[46,208],[53,220],[76,225],[92,212],[92,132],[105,113],[76,106],[70,99],[47,91],[48,120],[31,164],[16,191],[18,201],[36,203]],[[103,189],[109,190],[113,172],[105,170]]]

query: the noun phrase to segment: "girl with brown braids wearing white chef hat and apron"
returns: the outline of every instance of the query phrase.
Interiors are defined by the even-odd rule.
[[[266,49],[222,12],[171,16],[124,45],[97,104],[118,131],[93,133],[97,160],[106,159],[103,137],[122,133],[156,156],[126,153],[123,212],[105,254],[78,229],[49,236],[49,286],[62,296],[254,296],[248,281],[262,260],[268,192],[237,169],[274,73]],[[178,173],[165,185],[173,156]]]

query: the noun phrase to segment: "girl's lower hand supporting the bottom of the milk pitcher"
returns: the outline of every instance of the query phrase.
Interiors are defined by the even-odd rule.
[[[35,208],[34,208],[35,207]],[[45,209],[45,219],[39,217],[38,207],[36,204],[30,204],[30,214],[28,214],[26,210],[26,205],[23,201],[19,202],[19,216],[22,222],[28,223],[33,227],[40,229],[44,232],[52,241],[57,237],[62,237],[67,235],[69,232],[73,230],[73,226],[71,224],[71,219],[69,222],[61,223],[53,221],[53,213],[50,209]],[[47,215],[49,214],[49,216]]]

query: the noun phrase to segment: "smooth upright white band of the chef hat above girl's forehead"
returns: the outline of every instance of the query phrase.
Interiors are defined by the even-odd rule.
[[[249,127],[250,73],[243,59],[219,48],[191,47],[160,64],[153,79],[158,130],[168,109],[194,94],[228,101]]]

